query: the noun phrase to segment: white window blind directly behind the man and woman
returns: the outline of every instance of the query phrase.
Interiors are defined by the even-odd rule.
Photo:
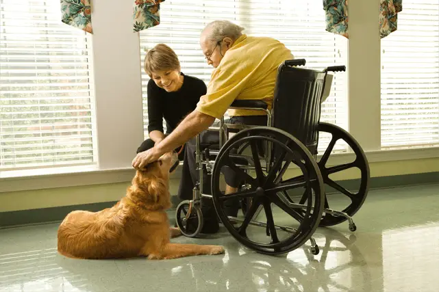
[[[325,31],[321,0],[180,0],[161,5],[160,25],[140,32],[142,65],[145,50],[160,42],[175,50],[186,75],[208,83],[213,70],[199,47],[200,32],[215,20],[229,20],[245,28],[249,36],[269,36],[284,42],[295,58],[305,58],[307,67],[323,69],[347,64],[347,40]],[[321,120],[347,128],[346,73],[335,75],[331,95],[322,107]],[[142,70],[145,137],[147,137],[147,82]],[[329,137],[322,135],[320,148]],[[337,144],[338,145],[338,144]],[[344,150],[339,146],[338,150]]]

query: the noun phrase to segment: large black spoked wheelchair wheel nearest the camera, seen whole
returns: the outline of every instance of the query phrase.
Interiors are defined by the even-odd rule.
[[[264,149],[270,154],[268,169]],[[290,166],[294,164],[295,171],[301,173],[299,178],[290,178]],[[223,194],[223,171],[234,172],[247,187]],[[307,204],[302,206],[288,198],[299,189],[308,190]],[[284,254],[310,239],[321,220],[324,196],[323,179],[311,153],[279,129],[255,127],[240,131],[221,148],[214,164],[212,198],[218,217],[235,239],[263,254]],[[229,217],[225,212],[225,202],[236,198],[251,199],[242,218]],[[255,216],[261,209],[264,213]]]

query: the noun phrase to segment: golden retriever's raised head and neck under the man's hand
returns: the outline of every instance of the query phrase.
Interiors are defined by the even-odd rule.
[[[137,170],[131,186],[131,200],[151,210],[168,209],[171,200],[168,191],[169,174],[177,168],[178,155],[168,152],[158,161],[149,163],[145,170]]]

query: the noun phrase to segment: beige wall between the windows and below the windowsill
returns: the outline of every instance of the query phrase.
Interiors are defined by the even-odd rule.
[[[112,19],[108,18],[108,15],[118,15],[118,10],[121,7],[104,4],[103,1],[95,3],[93,16],[95,19],[93,23],[95,52],[101,52],[95,53],[96,83],[100,84],[97,85],[96,94],[97,97],[103,96],[105,105],[111,109],[111,111],[98,111],[97,113],[98,120],[103,121],[98,124],[98,140],[101,142],[99,143],[99,159],[103,168],[122,168],[130,164],[132,159],[130,149],[136,148],[142,139],[141,100],[140,98],[127,99],[127,96],[141,95],[139,44],[137,35],[131,32],[129,19],[124,21],[123,27],[120,23],[108,22],[109,19]],[[125,11],[129,11],[132,9],[131,5],[131,3],[126,2],[122,6]],[[380,145],[378,15],[379,0],[349,2],[351,35],[348,64],[349,131],[366,151],[379,150]],[[110,29],[105,31],[105,27]],[[113,29],[115,30],[113,31]],[[124,32],[124,29],[128,32]],[[112,66],[108,66],[108,64]],[[127,72],[130,75],[127,75]],[[128,107],[127,101],[132,105]],[[129,112],[127,114],[127,108],[132,107],[136,107],[136,113]],[[125,109],[125,111],[121,111],[121,109]],[[368,115],[364,115],[366,111],[369,113]],[[127,119],[127,117],[131,119]],[[105,120],[109,122],[105,122]],[[121,124],[121,120],[127,124]],[[133,124],[136,127],[131,127]],[[125,131],[125,129],[130,131],[126,131],[124,137],[114,140],[115,127],[121,127],[118,133]],[[118,142],[120,145],[109,147],[114,142]],[[114,151],[111,152],[109,148]],[[114,157],[117,159],[114,160]],[[373,162],[370,163],[370,168],[372,177],[439,172],[439,159]],[[338,174],[334,179],[352,179],[356,178],[356,175],[353,171],[347,171]],[[171,194],[176,194],[178,183],[177,178],[171,181]],[[0,212],[114,201],[125,194],[127,185],[128,183],[112,183],[4,192],[0,193]]]

